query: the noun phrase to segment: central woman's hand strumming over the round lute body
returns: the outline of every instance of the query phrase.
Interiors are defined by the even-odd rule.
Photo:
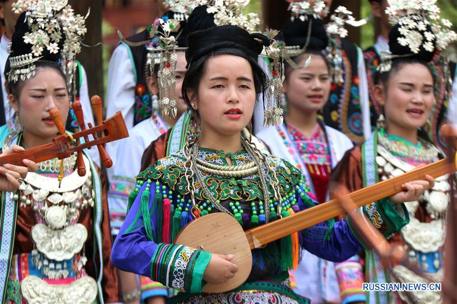
[[[203,281],[210,284],[221,284],[235,276],[238,266],[231,262],[233,254],[211,254],[211,259],[203,273]]]

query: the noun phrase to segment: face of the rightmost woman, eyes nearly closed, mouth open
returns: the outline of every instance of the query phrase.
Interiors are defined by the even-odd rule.
[[[384,106],[387,126],[416,129],[425,125],[435,102],[433,77],[419,63],[400,66],[390,75],[387,88],[380,88],[378,101]]]

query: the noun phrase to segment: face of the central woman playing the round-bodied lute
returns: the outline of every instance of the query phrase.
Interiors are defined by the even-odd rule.
[[[188,96],[200,114],[202,132],[239,133],[251,121],[256,102],[251,65],[234,55],[212,56],[205,63],[197,94],[188,91]]]

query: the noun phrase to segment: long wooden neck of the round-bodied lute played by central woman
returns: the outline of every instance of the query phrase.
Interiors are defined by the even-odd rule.
[[[450,159],[453,159],[453,157]],[[357,207],[362,207],[373,201],[403,191],[403,184],[414,180],[424,180],[425,175],[438,178],[455,171],[457,171],[456,164],[446,158],[426,166],[418,167],[408,173],[382,181],[370,187],[359,189],[348,195]],[[346,212],[340,203],[336,199],[332,199],[286,218],[246,230],[245,233],[251,249],[260,248],[265,244],[284,238],[293,232],[303,230],[344,213]]]

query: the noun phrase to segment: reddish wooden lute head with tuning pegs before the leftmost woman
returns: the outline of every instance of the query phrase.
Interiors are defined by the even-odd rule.
[[[94,112],[97,114],[97,126],[92,126],[92,124],[89,123],[89,128],[85,127],[81,104],[75,101],[73,102],[72,108],[76,114],[76,118],[81,127],[81,131],[75,132],[70,137],[69,134],[67,134],[65,131],[62,118],[60,118],[60,113],[57,109],[52,109],[50,111],[50,116],[57,126],[60,135],[54,137],[52,142],[49,144],[0,156],[0,165],[10,163],[23,166],[23,159],[29,159],[34,162],[41,162],[55,157],[63,159],[77,152],[78,175],[84,176],[86,171],[81,151],[85,148],[90,149],[90,147],[97,146],[102,163],[106,167],[112,166],[113,162],[106,152],[104,145],[108,142],[113,142],[128,137],[129,132],[127,130],[124,118],[120,112],[117,112],[105,121],[101,121],[102,104],[100,97],[97,95],[93,96],[91,98],[91,103],[93,105]],[[98,136],[98,133],[100,133],[100,137]],[[81,138],[84,139],[84,143],[81,142]]]

